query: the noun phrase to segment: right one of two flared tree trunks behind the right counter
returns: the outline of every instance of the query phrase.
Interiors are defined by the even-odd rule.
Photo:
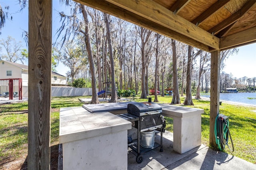
[[[184,100],[184,105],[194,105],[192,101],[192,95],[191,95],[191,75],[192,75],[192,46],[188,45],[188,65],[187,65],[187,83],[186,83],[186,98]]]

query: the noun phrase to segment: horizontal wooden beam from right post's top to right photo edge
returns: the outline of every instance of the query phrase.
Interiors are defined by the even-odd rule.
[[[256,41],[256,27],[220,38],[220,49],[226,49],[254,41]]]

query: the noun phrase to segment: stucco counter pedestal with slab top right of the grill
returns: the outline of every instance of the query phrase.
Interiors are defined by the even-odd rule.
[[[201,145],[201,114],[204,109],[161,105],[162,114],[173,119],[173,150],[183,154]]]

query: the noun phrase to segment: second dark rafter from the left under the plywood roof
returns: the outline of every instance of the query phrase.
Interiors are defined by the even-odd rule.
[[[204,11],[200,16],[198,16],[196,19],[194,19],[192,21],[192,23],[199,26],[200,23],[202,23],[204,20],[206,20],[209,16],[216,13],[220,8],[225,6],[229,1],[230,0],[218,0],[210,8],[208,8],[206,11]]]

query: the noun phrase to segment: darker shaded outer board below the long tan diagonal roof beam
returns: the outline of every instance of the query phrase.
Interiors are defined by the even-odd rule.
[[[119,6],[116,6],[114,4],[106,2],[105,0],[74,0],[74,1],[84,4],[86,6],[90,6],[97,10],[100,10],[102,12],[106,12],[110,15],[116,16],[118,18],[121,18],[128,22],[131,22],[138,26],[142,26],[144,28],[147,28],[149,30],[152,30],[154,32],[162,34],[164,36],[170,37],[174,40],[178,40],[180,42],[186,43],[193,47],[202,49],[204,51],[209,51],[209,46],[207,46],[201,42],[198,42],[196,40],[193,40],[192,38],[186,37],[186,36],[184,36],[178,32],[175,32],[173,30],[170,30],[160,24],[156,24],[156,23],[154,23],[146,18],[143,18],[142,16],[138,16],[137,14],[134,14],[128,10],[121,9],[121,8],[119,8]]]

